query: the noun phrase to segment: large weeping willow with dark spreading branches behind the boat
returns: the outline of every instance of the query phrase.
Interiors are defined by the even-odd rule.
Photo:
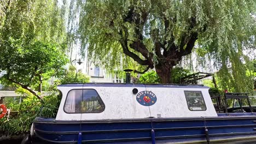
[[[256,1],[77,1],[82,51],[106,68],[121,59],[155,68],[162,83],[195,45],[211,55],[215,66],[235,79],[245,76],[245,50],[255,44]],[[255,49],[255,47],[253,48]],[[244,64],[245,63],[245,64]]]

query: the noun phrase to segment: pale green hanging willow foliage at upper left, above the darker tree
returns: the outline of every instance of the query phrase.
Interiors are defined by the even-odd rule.
[[[3,4],[0,6],[0,39],[22,39],[28,43],[36,39],[58,44],[65,41],[64,12],[57,0],[4,0],[0,3]]]

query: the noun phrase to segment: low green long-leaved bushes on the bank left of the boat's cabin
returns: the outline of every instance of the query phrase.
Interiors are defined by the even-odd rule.
[[[0,119],[0,135],[28,133],[34,118],[39,115],[42,106],[46,107],[46,109],[42,109],[42,117],[56,117],[60,97],[53,93],[52,95],[45,96],[42,100],[44,101],[43,103],[34,95],[28,95],[20,105],[18,116],[10,117],[9,121],[7,121],[7,117]],[[7,107],[11,106],[13,105],[7,105]]]

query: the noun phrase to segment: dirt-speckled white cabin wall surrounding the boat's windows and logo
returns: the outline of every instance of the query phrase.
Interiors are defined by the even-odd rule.
[[[56,119],[59,120],[94,120],[94,119],[125,119],[147,117],[214,117],[217,113],[212,104],[208,88],[164,88],[164,87],[84,87],[95,89],[100,95],[105,110],[101,113],[69,114],[63,111],[66,95],[70,89],[83,87],[59,87],[63,97]],[[152,91],[157,98],[154,105],[143,106],[136,100],[137,94],[132,89]],[[201,91],[206,103],[206,111],[190,111],[184,91]],[[151,113],[151,115],[150,115]]]

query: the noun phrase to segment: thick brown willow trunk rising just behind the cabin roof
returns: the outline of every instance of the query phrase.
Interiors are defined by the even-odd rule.
[[[171,67],[166,65],[156,65],[155,67],[156,74],[161,79],[162,83],[172,83],[171,81]]]

